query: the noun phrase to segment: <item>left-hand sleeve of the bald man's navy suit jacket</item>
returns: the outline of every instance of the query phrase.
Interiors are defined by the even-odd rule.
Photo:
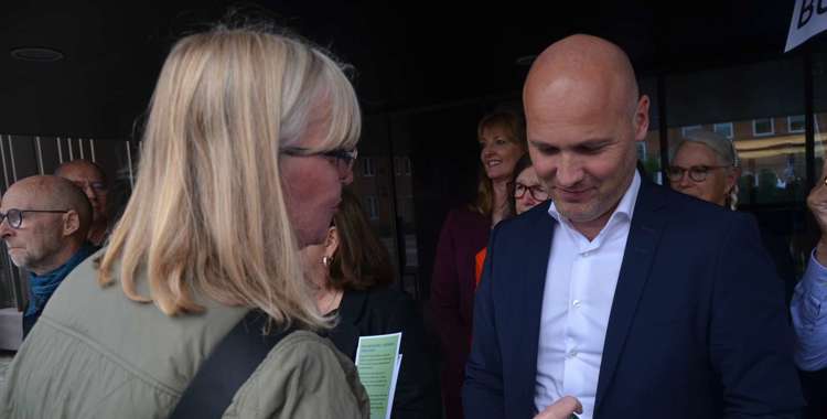
[[[504,418],[503,362],[497,341],[494,292],[495,228],[488,243],[483,277],[474,300],[471,355],[465,366],[462,404],[468,418]]]

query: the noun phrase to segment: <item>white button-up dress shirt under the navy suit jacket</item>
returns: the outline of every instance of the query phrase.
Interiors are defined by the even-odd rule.
[[[583,405],[580,418],[591,419],[603,358],[609,313],[614,300],[641,176],[632,184],[602,230],[589,241],[571,223],[557,219],[543,294],[534,402],[537,411],[563,396]]]

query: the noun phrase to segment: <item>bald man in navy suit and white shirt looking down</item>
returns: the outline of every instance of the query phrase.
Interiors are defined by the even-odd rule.
[[[782,290],[754,221],[635,170],[649,99],[623,51],[574,35],[525,83],[551,201],[491,234],[469,418],[793,418],[803,399]],[[567,401],[568,400],[568,401]]]

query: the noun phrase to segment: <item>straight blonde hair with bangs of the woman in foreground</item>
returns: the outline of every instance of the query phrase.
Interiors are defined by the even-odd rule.
[[[129,299],[168,315],[203,310],[193,298],[203,292],[276,323],[329,326],[303,277],[279,171],[280,148],[301,139],[314,108],[330,123],[310,151],[355,147],[353,86],[319,49],[255,28],[179,41],[152,96],[135,193],[99,282],[117,269]],[[140,276],[149,298],[136,290]]]

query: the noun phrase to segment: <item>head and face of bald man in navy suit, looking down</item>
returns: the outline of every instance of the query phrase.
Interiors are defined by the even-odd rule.
[[[599,37],[566,37],[535,61],[523,104],[537,176],[557,211],[594,238],[634,179],[635,142],[648,130],[629,57]]]

